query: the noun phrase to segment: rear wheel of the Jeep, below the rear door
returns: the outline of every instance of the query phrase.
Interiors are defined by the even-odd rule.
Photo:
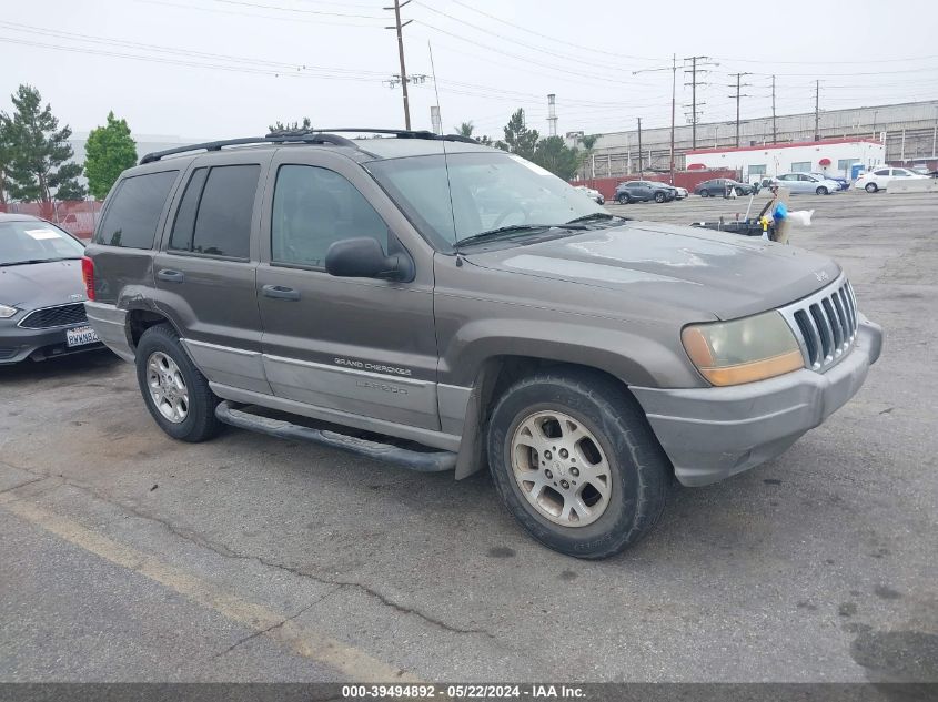
[[[143,333],[137,345],[137,381],[160,428],[174,439],[198,442],[218,434],[219,398],[168,324]]]

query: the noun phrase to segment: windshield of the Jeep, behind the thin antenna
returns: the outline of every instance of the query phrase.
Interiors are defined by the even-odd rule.
[[[513,154],[455,153],[447,159],[448,174],[443,155],[369,164],[414,226],[441,248],[452,250],[455,242],[483,232],[566,224],[605,212],[557,176]]]

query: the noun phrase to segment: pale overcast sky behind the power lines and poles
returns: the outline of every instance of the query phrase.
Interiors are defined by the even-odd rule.
[[[39,88],[62,123],[87,131],[109,110],[138,134],[261,134],[275,120],[315,126],[403,126],[391,0],[6,0],[0,14],[0,110],[19,83]],[[12,11],[11,11],[12,10]],[[415,129],[436,103],[446,131],[472,120],[502,135],[511,112],[546,133],[607,132],[670,122],[678,58],[678,123],[690,90],[684,57],[712,57],[700,120],[735,118],[732,73],[749,72],[743,116],[938,96],[938,2],[572,2],[413,0],[403,10]],[[730,88],[730,83],[734,88]],[[689,112],[689,108],[687,109]]]

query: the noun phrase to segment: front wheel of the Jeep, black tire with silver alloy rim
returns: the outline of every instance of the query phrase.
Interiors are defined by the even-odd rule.
[[[492,413],[487,451],[512,516],[567,556],[618,553],[664,509],[668,459],[635,400],[599,373],[548,370],[516,381]]]

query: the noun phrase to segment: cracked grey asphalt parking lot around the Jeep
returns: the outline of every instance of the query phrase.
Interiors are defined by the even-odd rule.
[[[531,540],[487,475],[175,442],[108,353],[0,369],[0,680],[938,681],[938,197],[791,208],[816,210],[791,242],[846,268],[881,359],[603,562]]]

